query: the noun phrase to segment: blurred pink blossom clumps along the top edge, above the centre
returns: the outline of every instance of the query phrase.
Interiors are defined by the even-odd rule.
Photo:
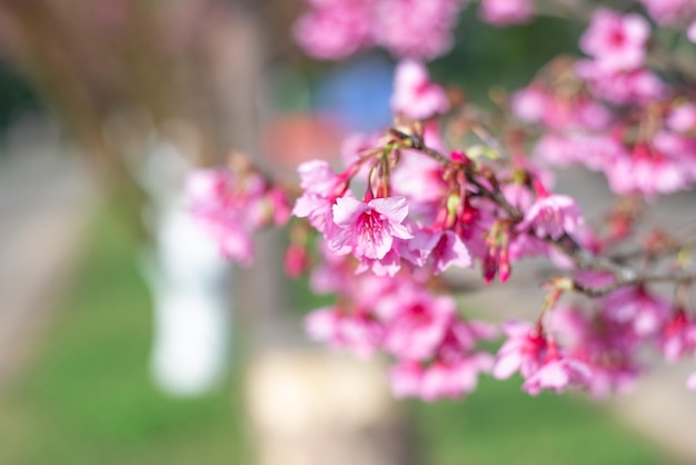
[[[307,0],[295,24],[312,57],[341,59],[378,46],[396,57],[430,60],[453,47],[453,30],[466,0]],[[529,21],[533,0],[483,0],[480,18],[496,26]]]

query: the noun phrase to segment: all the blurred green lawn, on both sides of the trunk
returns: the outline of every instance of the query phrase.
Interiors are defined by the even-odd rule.
[[[150,383],[150,301],[136,247],[109,218],[99,220],[61,311],[2,403],[0,464],[250,463],[238,379],[188,402],[168,398]],[[408,403],[417,463],[667,463],[601,405],[571,395],[533,398],[519,384],[484,378],[460,402]]]

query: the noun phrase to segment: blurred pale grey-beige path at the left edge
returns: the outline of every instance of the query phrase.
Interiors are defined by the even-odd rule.
[[[0,154],[0,389],[22,366],[70,276],[91,197],[58,145]]]

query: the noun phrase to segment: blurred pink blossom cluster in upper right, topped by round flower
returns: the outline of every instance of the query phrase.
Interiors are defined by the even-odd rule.
[[[580,38],[589,58],[549,67],[513,96],[514,115],[544,130],[535,156],[604,172],[618,195],[696,185],[696,107],[647,67],[649,39],[643,16],[599,9]]]

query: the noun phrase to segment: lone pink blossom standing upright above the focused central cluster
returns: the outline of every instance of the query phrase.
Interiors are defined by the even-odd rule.
[[[430,81],[422,63],[405,60],[396,68],[391,110],[411,119],[428,119],[447,112],[449,101],[445,90]]]

